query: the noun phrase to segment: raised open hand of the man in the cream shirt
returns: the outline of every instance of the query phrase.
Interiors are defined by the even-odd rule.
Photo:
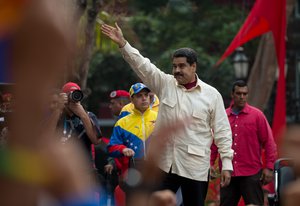
[[[116,27],[107,24],[102,24],[101,31],[103,34],[108,36],[112,41],[118,44],[120,48],[122,48],[126,44],[126,39],[124,38],[123,32],[117,23],[115,23],[115,26]]]

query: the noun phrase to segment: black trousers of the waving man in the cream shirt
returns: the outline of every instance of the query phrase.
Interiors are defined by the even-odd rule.
[[[196,181],[172,173],[163,172],[160,190],[169,189],[174,193],[181,187],[183,205],[204,206],[208,181]]]

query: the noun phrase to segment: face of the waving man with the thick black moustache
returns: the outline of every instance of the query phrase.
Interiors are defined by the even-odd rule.
[[[196,63],[190,65],[186,57],[173,58],[173,75],[178,84],[187,84],[195,81]]]

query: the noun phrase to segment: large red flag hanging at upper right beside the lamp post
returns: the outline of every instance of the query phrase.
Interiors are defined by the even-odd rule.
[[[231,44],[226,49],[219,65],[237,47],[247,41],[262,35],[268,31],[273,34],[277,62],[279,65],[279,79],[277,83],[277,93],[273,116],[273,134],[278,142],[280,131],[286,124],[286,101],[285,101],[285,36],[286,36],[286,0],[257,0],[250,11],[245,23],[235,36]]]

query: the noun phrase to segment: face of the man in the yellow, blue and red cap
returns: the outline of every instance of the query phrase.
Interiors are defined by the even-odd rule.
[[[132,95],[131,101],[137,110],[140,112],[146,111],[150,105],[149,91],[143,89],[139,93]]]

